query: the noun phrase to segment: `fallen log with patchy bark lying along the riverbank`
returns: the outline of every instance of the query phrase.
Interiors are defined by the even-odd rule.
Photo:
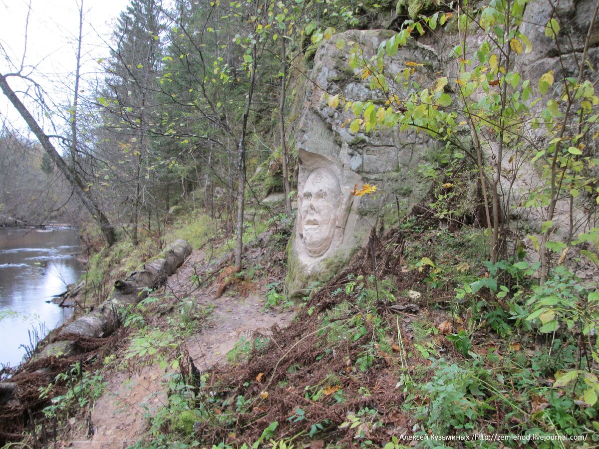
[[[146,298],[149,290],[164,283],[191,253],[191,245],[184,240],[177,240],[169,245],[159,256],[146,262],[138,271],[129,274],[125,280],[116,281],[106,301],[90,313],[63,327],[56,341],[47,345],[34,358],[38,360],[62,354],[71,355],[74,345],[71,339],[74,335],[87,338],[111,335],[119,326],[120,311],[123,306],[135,305]],[[61,336],[65,338],[61,339]],[[68,343],[69,341],[71,344]],[[56,353],[57,350],[59,354]]]

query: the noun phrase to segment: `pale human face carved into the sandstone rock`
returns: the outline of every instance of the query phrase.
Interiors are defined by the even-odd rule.
[[[311,172],[304,184],[301,205],[302,236],[309,256],[322,256],[331,246],[340,199],[339,181],[331,170]]]

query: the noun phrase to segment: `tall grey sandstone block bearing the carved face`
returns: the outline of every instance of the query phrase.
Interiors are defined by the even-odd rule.
[[[349,66],[349,48],[358,43],[365,57],[394,34],[388,30],[348,31],[340,35],[348,45],[339,50],[333,42],[320,46],[314,59],[297,132],[298,216],[289,251],[287,278],[292,297],[308,292],[314,281],[325,280],[347,263],[368,238],[378,220],[397,220],[429,190],[418,166],[432,160],[444,144],[423,133],[382,129],[352,134],[343,107],[331,108],[323,92],[348,101],[374,101],[384,105],[389,95],[403,98],[411,89],[401,82],[387,92],[371,88],[359,69]],[[418,66],[409,62],[418,61]],[[432,86],[438,59],[431,48],[411,42],[385,60],[389,79],[400,71],[415,71],[420,86]],[[355,196],[362,184],[377,186],[374,195]],[[399,208],[399,210],[398,210]]]

